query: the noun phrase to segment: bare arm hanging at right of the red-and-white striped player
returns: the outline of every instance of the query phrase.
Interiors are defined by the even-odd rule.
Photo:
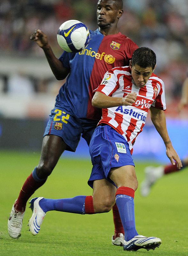
[[[171,164],[175,165],[175,162],[174,162],[175,160],[177,162],[177,168],[180,169],[182,167],[182,162],[170,141],[167,128],[166,128],[166,118],[165,118],[164,111],[158,108],[151,107],[150,116],[155,126],[155,129],[157,130],[157,132],[159,132],[161,138],[164,141],[164,144],[166,147],[166,155],[170,159]]]

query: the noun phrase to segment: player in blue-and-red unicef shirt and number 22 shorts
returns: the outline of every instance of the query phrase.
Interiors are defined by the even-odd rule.
[[[55,108],[51,111],[44,132],[39,164],[28,176],[13,204],[8,220],[8,233],[12,238],[20,236],[26,202],[36,189],[40,188],[51,174],[64,150],[75,152],[82,136],[89,145],[91,136],[101,118],[101,109],[92,106],[92,92],[101,83],[103,75],[110,68],[129,65],[132,53],[138,46],[122,35],[117,23],[123,14],[122,0],[99,0],[97,3],[97,24],[90,31],[87,48],[79,53],[64,52],[57,59],[51,50],[47,36],[39,29],[31,35],[44,51],[53,74],[58,80],[67,77],[56,97]],[[79,173],[78,173],[79,175]],[[96,186],[101,188],[103,181]],[[113,188],[113,194],[116,188]],[[97,190],[95,198],[103,198],[106,211],[115,204],[108,202],[108,191]],[[97,204],[97,203],[96,203]],[[93,213],[90,197],[85,202],[86,213]],[[112,243],[122,245],[124,234],[117,205],[113,207],[115,234]]]

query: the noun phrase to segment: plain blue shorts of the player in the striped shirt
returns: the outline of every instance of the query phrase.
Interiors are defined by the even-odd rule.
[[[125,138],[111,126],[98,126],[89,144],[89,153],[93,168],[88,185],[93,188],[94,180],[107,179],[111,168],[133,165],[129,144]]]

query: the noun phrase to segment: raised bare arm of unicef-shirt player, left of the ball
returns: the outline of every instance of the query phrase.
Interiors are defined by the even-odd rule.
[[[70,70],[65,68],[62,65],[62,62],[54,55],[46,34],[44,34],[40,29],[35,29],[35,31],[31,34],[30,39],[36,42],[36,44],[43,49],[49,66],[56,79],[63,80],[69,74]]]

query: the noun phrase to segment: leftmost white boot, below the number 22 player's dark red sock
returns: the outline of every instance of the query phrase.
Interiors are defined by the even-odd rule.
[[[8,220],[8,233],[9,233],[9,236],[12,238],[19,238],[21,236],[20,232],[22,228],[22,221],[24,218],[25,211],[24,212],[15,211],[14,204],[12,206],[11,214]]]

